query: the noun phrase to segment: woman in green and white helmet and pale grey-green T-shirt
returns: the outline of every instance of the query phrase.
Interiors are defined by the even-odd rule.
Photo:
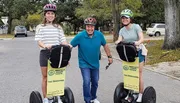
[[[133,12],[131,10],[129,10],[129,9],[122,10],[121,22],[123,24],[123,27],[119,31],[119,38],[115,42],[115,44],[118,44],[121,41],[134,42],[135,45],[138,47],[140,44],[143,43],[143,40],[144,40],[143,31],[138,24],[132,23],[132,18],[133,18]],[[137,102],[141,102],[142,101],[142,93],[143,93],[142,69],[143,69],[144,61],[145,61],[145,56],[142,55],[141,49],[138,51],[138,56],[139,56],[140,93],[139,93]],[[127,99],[127,98],[125,98],[125,99]]]

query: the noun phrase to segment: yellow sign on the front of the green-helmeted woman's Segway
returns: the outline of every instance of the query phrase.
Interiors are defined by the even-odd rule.
[[[124,88],[139,92],[139,58],[135,62],[122,62]]]

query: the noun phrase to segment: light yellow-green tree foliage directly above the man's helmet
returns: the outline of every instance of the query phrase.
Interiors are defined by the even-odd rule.
[[[110,6],[110,0],[84,0],[76,9],[76,15],[83,19],[95,15],[97,19],[108,20],[112,18]]]

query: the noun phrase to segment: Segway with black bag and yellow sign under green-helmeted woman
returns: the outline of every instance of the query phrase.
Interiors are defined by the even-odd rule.
[[[139,93],[139,58],[134,43],[120,42],[116,50],[122,60],[124,82],[114,91],[114,103],[136,103]],[[128,97],[128,98],[127,98]],[[156,91],[152,86],[145,88],[142,103],[156,103]]]

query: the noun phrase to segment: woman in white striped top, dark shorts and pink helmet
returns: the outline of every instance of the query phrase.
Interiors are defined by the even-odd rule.
[[[44,11],[44,21],[42,24],[37,25],[35,31],[35,40],[38,42],[40,47],[39,62],[42,72],[42,92],[43,92],[43,103],[50,103],[48,98],[46,98],[47,90],[47,61],[50,56],[50,49],[53,45],[65,44],[66,37],[64,35],[63,29],[55,21],[56,5],[46,4],[43,8]],[[58,97],[58,103],[62,103]]]

